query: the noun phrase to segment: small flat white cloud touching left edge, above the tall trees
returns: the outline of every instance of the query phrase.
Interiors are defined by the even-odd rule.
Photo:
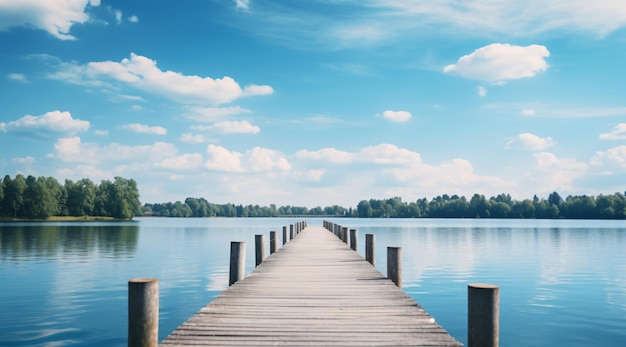
[[[74,119],[69,112],[51,111],[41,116],[26,115],[16,121],[0,123],[0,130],[45,136],[48,133],[73,135],[87,131],[89,122]]]

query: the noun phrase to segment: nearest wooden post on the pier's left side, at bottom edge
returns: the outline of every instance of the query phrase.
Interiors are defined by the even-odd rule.
[[[157,347],[159,343],[159,280],[128,281],[128,347]]]

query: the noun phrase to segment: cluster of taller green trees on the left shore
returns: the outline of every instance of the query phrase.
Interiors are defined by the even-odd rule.
[[[54,177],[14,178],[6,175],[0,182],[0,217],[46,219],[50,216],[95,216],[132,219],[141,214],[137,182],[115,177],[95,184],[88,178],[66,179],[60,184]]]

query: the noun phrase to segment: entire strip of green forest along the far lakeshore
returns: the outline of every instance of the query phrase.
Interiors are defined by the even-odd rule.
[[[66,179],[60,184],[53,177],[11,178],[0,182],[0,218],[46,219],[51,216],[110,217],[132,219],[153,217],[282,217],[333,216],[359,218],[536,218],[536,219],[626,219],[626,197],[612,195],[569,195],[557,192],[547,199],[514,200],[509,194],[486,198],[474,194],[470,199],[447,194],[405,202],[400,197],[361,200],[356,208],[215,204],[204,198],[184,202],[146,203],[139,201],[137,182],[115,177],[95,184],[84,178]]]

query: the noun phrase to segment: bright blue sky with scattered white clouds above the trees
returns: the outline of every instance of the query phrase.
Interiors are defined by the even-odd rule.
[[[356,206],[626,185],[626,4],[0,0],[4,174]]]

